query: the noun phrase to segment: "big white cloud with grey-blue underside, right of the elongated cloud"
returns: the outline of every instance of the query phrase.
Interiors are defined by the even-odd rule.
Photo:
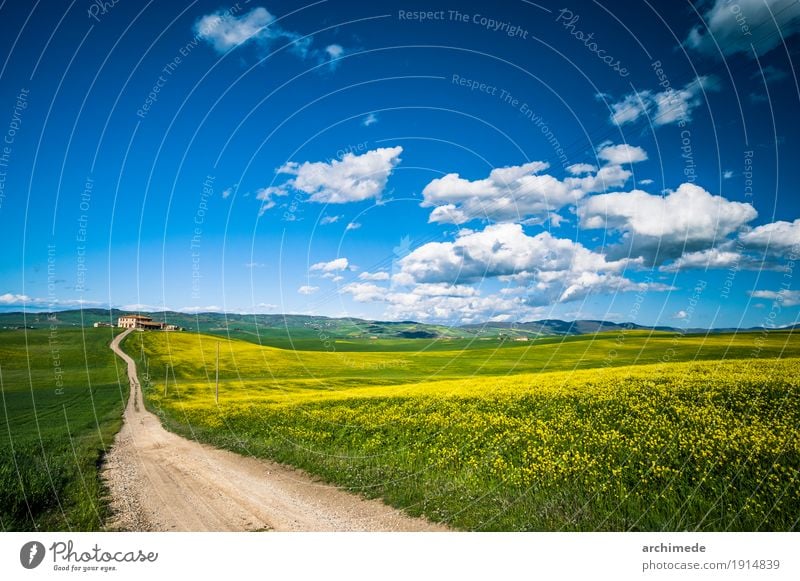
[[[622,234],[616,254],[641,256],[653,264],[712,248],[757,215],[750,204],[732,202],[690,183],[664,196],[641,190],[601,194],[578,207],[584,228]]]

